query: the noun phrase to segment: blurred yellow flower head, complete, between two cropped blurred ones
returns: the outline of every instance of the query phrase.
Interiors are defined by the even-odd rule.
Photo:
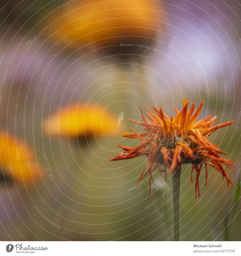
[[[95,135],[117,134],[117,118],[101,106],[74,104],[61,108],[44,122],[44,130],[50,135],[85,138]]]

